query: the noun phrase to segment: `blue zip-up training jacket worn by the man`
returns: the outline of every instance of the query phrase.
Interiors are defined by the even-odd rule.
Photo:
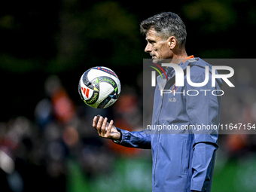
[[[194,83],[205,80],[205,67],[209,66],[209,82],[203,87],[187,84],[188,65],[190,80]],[[216,95],[221,95],[218,90],[222,82],[216,79],[215,87],[212,87],[212,66],[203,59],[189,59],[178,66],[184,70],[184,87],[175,87],[173,68],[167,69],[168,81],[164,84],[157,77],[151,130],[129,132],[117,128],[122,133],[119,144],[133,148],[151,148],[152,191],[209,192],[212,187],[215,151],[218,148],[216,127],[221,112],[221,96]],[[171,90],[172,93],[161,96],[160,89]],[[161,130],[155,129],[157,125],[163,125]],[[163,130],[164,125],[174,125],[176,130]],[[185,130],[184,127],[195,129]]]

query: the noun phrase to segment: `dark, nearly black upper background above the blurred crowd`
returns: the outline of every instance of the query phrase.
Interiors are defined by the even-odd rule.
[[[139,23],[172,11],[187,26],[187,54],[254,58],[254,1],[8,1],[0,6],[0,120],[33,118],[44,81],[58,75],[75,102],[84,71],[108,66],[122,84],[136,86],[145,37]]]

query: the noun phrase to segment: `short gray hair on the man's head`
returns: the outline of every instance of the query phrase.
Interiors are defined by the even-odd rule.
[[[183,47],[186,42],[186,26],[177,14],[164,12],[149,17],[140,24],[142,34],[147,33],[151,28],[154,28],[157,34],[163,39],[175,36],[177,44],[180,47]]]

